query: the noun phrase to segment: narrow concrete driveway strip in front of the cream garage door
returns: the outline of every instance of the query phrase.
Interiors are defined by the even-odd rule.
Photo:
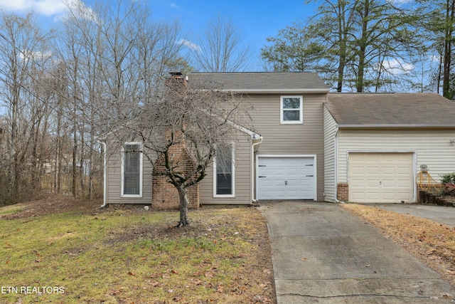
[[[424,219],[432,219],[440,224],[455,227],[454,207],[419,204],[368,204],[368,206],[375,206],[379,209],[419,216]]]

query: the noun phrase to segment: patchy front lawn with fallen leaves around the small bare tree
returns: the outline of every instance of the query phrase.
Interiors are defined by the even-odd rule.
[[[139,207],[0,217],[0,303],[275,303],[259,211],[189,216],[182,229],[178,211]]]

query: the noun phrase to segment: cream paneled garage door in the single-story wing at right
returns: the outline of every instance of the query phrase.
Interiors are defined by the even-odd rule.
[[[349,201],[414,201],[412,153],[349,153]]]

